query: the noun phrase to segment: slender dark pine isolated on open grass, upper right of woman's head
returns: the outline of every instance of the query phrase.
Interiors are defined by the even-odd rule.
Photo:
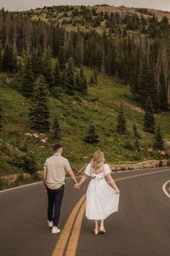
[[[128,132],[122,103],[120,104],[120,108],[118,111],[116,130],[120,135],[125,135]]]

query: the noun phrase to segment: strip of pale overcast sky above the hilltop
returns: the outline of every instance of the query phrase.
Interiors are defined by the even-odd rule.
[[[0,0],[0,9],[4,7],[9,11],[19,11],[35,9],[36,7],[53,5],[95,5],[109,4],[115,7],[124,5],[125,7],[146,7],[152,9],[162,9],[170,12],[170,0]]]

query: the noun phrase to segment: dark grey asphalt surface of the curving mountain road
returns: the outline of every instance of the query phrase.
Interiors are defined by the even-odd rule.
[[[154,168],[124,171],[114,179],[166,170]],[[93,222],[83,218],[76,256],[167,256],[170,252],[170,200],[162,191],[169,171],[117,181],[120,206],[105,221],[107,233],[94,235]],[[59,228],[63,229],[71,210],[86,192],[66,180]],[[0,255],[50,256],[60,234],[47,226],[47,197],[42,184],[0,193]]]

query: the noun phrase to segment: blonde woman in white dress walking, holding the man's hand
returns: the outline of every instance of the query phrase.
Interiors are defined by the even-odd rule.
[[[104,234],[104,219],[118,211],[120,190],[110,173],[109,165],[104,164],[104,153],[97,150],[80,182],[74,185],[74,188],[79,189],[88,176],[92,178],[86,193],[86,218],[94,220],[94,234]],[[98,221],[101,221],[100,227]]]

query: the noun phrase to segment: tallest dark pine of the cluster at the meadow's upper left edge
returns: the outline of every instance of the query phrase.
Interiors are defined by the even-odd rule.
[[[73,95],[75,90],[75,74],[74,74],[74,61],[72,58],[68,59],[66,68],[66,93]]]

